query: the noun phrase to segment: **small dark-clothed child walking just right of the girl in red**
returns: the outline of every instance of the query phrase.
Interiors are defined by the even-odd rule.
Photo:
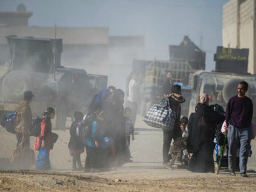
[[[82,171],[84,168],[81,164],[80,155],[84,152],[84,144],[82,140],[83,134],[83,113],[75,112],[74,113],[74,123],[70,127],[70,140],[68,143],[68,149],[70,155],[73,157],[73,171]],[[77,166],[78,168],[77,168]]]

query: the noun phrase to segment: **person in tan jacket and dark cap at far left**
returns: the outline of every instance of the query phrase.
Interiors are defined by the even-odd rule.
[[[16,108],[15,134],[17,138],[17,147],[20,146],[20,144],[29,147],[29,127],[32,123],[32,113],[29,103],[32,101],[34,94],[32,91],[25,91],[23,95],[23,101],[21,101]]]

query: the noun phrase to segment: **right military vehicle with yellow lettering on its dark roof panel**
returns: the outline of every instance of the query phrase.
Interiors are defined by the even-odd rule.
[[[215,71],[196,71],[190,75],[191,100],[189,114],[194,112],[199,96],[207,93],[210,104],[226,104],[237,94],[238,83],[245,80],[249,84],[246,93],[256,104],[256,75],[247,73],[249,49],[231,49],[217,47]],[[256,112],[253,116],[256,120]]]

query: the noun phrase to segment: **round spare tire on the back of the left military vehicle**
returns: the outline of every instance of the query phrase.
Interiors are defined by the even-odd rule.
[[[24,71],[11,71],[2,80],[5,101],[21,101],[23,93],[30,90],[32,82]]]

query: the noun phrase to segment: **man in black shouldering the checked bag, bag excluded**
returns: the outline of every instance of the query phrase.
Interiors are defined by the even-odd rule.
[[[181,94],[180,85],[173,85],[171,94],[166,96],[169,99],[169,107],[176,112],[176,120],[172,130],[163,130],[163,168],[165,169],[172,169],[171,165],[169,165],[169,160],[171,159],[169,148],[172,138],[175,140],[176,138],[182,137],[182,131],[180,130],[180,104],[185,102],[185,98]]]

